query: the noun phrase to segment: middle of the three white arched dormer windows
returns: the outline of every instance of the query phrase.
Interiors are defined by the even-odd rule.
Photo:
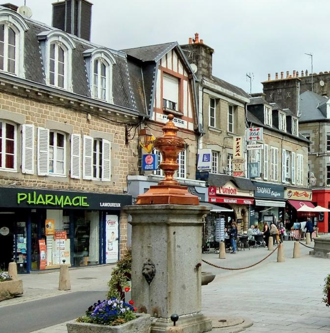
[[[63,31],[45,31],[38,35],[45,64],[46,83],[72,91],[73,39]]]

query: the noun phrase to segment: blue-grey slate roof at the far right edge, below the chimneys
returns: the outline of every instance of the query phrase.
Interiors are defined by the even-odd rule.
[[[299,96],[299,111],[301,112],[300,121],[323,120],[327,117],[321,112],[320,104],[329,100],[328,97],[306,91]]]

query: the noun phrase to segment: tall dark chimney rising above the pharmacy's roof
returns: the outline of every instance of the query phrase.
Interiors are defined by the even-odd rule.
[[[65,0],[53,3],[52,26],[89,41],[92,5],[87,0]]]

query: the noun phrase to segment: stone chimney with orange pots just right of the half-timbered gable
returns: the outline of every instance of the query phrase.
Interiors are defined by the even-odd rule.
[[[197,66],[196,75],[199,78],[212,76],[212,54],[214,49],[204,44],[196,32],[190,37],[188,44],[180,45],[190,64]]]

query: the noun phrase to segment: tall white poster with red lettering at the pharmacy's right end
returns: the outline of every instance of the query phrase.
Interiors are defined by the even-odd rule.
[[[118,261],[118,216],[105,216],[105,263]]]

